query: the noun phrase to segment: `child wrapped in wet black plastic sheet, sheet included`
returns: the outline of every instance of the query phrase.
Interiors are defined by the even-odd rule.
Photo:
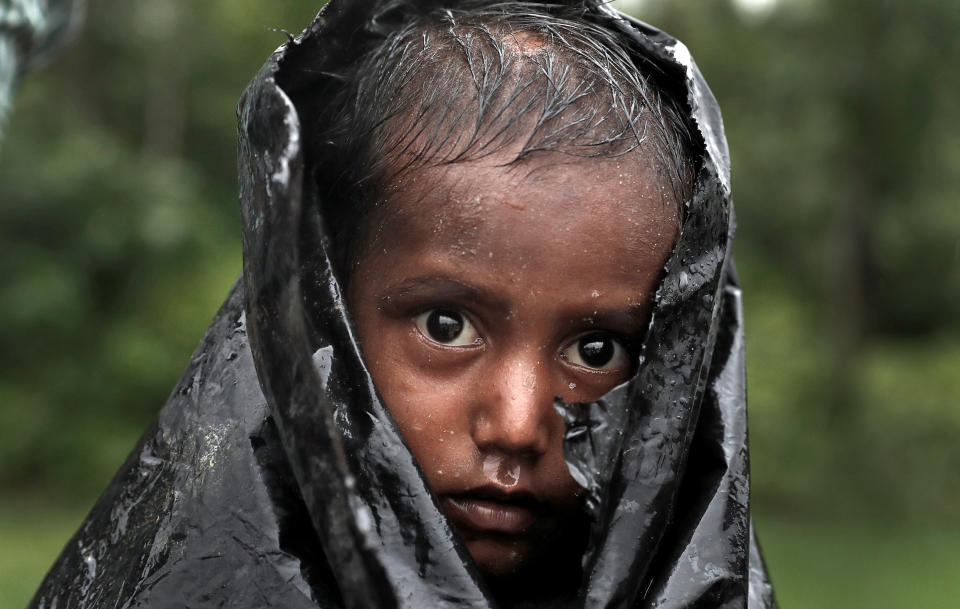
[[[247,316],[36,606],[773,606],[715,102],[601,5],[451,4],[251,85]]]

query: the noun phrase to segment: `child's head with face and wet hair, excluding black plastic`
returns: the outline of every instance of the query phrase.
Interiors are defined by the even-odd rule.
[[[575,9],[411,12],[346,87],[298,92],[307,163],[364,359],[443,513],[488,583],[556,592],[584,536],[554,396],[635,372],[692,138]]]

